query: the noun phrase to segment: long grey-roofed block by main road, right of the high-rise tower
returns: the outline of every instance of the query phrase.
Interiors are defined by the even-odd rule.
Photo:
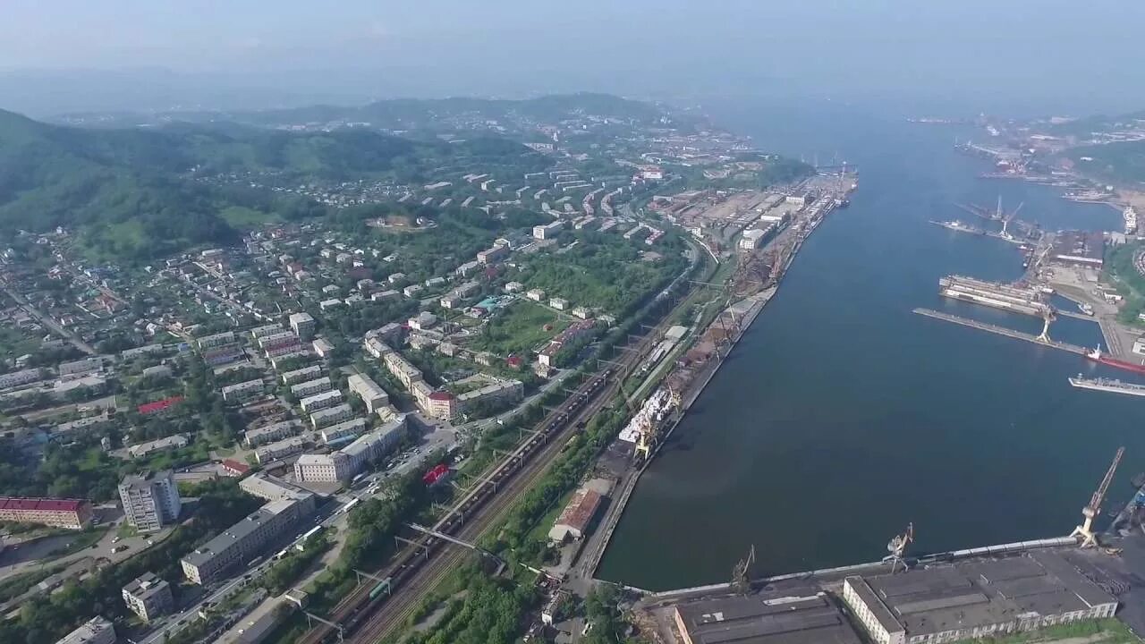
[[[262,548],[307,513],[290,498],[271,501],[226,532],[188,553],[180,561],[191,583],[206,584],[228,568],[258,557]]]

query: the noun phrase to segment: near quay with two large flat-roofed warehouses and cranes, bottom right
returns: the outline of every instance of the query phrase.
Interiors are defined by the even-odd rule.
[[[1123,455],[1067,536],[915,553],[911,524],[879,561],[761,579],[752,548],[724,583],[630,589],[633,616],[662,644],[930,643],[1032,630],[1029,641],[1047,644],[1131,642],[1145,633],[1145,474],[1112,523],[1096,527]]]

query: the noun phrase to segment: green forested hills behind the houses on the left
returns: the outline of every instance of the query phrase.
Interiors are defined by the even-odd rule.
[[[459,162],[526,170],[548,163],[490,138],[445,143],[364,129],[287,133],[235,125],[80,129],[0,111],[0,235],[64,226],[104,256],[161,257],[189,245],[234,242],[238,234],[220,213],[268,206],[266,195],[194,181],[192,171],[417,182]]]

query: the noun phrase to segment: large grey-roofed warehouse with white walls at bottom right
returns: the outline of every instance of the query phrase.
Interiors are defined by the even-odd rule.
[[[844,580],[843,599],[878,644],[941,644],[1113,616],[1118,600],[1061,553]]]

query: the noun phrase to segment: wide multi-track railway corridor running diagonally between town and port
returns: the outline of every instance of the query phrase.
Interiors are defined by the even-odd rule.
[[[695,264],[692,269],[694,268]],[[678,277],[661,297],[685,275]],[[661,297],[656,298],[657,301]],[[686,299],[681,297],[677,306]],[[434,529],[472,542],[502,520],[520,497],[520,493],[531,487],[548,470],[560,454],[564,439],[577,431],[578,423],[598,414],[619,391],[624,378],[655,346],[658,332],[664,330],[670,317],[671,311],[661,317],[656,327],[641,336],[615,367],[584,382],[556,410],[538,423],[534,434],[502,461],[489,477],[475,484],[455,503],[434,524]],[[467,556],[457,548],[445,548],[447,543],[436,537],[419,535],[414,542],[417,545],[404,548],[392,564],[374,573],[378,578],[390,580],[390,592],[396,589],[400,592],[371,598],[370,591],[374,584],[364,583],[334,606],[330,620],[342,625],[345,641],[373,643],[390,635],[412,613],[425,592],[440,584]],[[332,633],[334,628],[319,625],[298,642],[318,644]]]

